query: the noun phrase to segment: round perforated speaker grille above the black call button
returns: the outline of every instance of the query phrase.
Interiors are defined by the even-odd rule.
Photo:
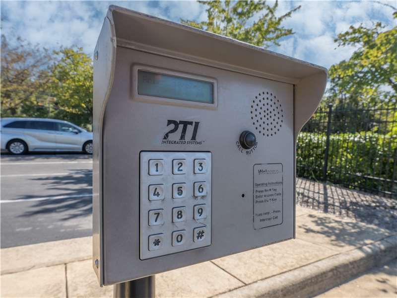
[[[251,120],[255,130],[264,137],[273,137],[280,131],[284,113],[275,94],[262,91],[255,96],[251,101]]]

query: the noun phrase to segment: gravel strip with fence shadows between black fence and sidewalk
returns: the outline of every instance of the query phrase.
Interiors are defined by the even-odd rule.
[[[297,178],[296,201],[302,207],[397,230],[396,200],[393,199]]]

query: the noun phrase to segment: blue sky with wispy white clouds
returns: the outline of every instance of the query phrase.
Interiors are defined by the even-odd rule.
[[[272,4],[272,1],[268,1]],[[394,1],[383,1],[393,6]],[[1,1],[1,34],[9,42],[21,37],[32,44],[57,49],[78,46],[92,55],[109,5],[179,22],[203,21],[205,5],[196,1]],[[385,30],[396,26],[393,10],[375,1],[279,1],[277,15],[302,7],[282,25],[294,35],[269,50],[329,68],[348,59],[353,47],[337,48],[334,38],[350,25],[372,26],[381,21]]]

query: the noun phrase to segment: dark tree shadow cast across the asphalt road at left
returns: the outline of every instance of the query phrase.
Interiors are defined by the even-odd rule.
[[[92,170],[70,170],[70,174],[62,176],[49,176],[33,178],[42,182],[47,189],[56,190],[58,196],[76,196],[75,198],[49,199],[32,201],[28,211],[19,217],[31,217],[43,214],[60,214],[59,220],[85,217],[92,213]],[[73,187],[71,187],[73,186]],[[78,186],[75,188],[75,186]],[[83,196],[87,195],[87,196]],[[25,195],[20,199],[35,198]]]

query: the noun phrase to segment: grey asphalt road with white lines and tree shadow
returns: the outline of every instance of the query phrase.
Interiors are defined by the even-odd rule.
[[[92,227],[92,159],[1,155],[1,248],[83,237]]]

